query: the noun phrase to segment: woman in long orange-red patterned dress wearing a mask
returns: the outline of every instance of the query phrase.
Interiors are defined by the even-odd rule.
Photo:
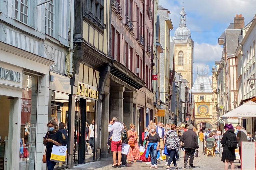
[[[135,131],[135,125],[130,124],[130,130],[128,130],[128,145],[130,145],[130,150],[127,154],[128,163],[132,160],[137,162],[140,159],[140,149],[137,142],[138,133]]]

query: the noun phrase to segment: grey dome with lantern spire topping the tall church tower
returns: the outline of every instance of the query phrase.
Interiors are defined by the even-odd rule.
[[[180,12],[180,26],[175,31],[175,38],[176,39],[191,39],[190,30],[187,28],[186,24],[186,12],[184,11],[184,7]]]

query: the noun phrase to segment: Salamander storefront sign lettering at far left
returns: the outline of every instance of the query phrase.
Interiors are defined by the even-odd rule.
[[[0,67],[0,78],[20,83],[20,73]]]

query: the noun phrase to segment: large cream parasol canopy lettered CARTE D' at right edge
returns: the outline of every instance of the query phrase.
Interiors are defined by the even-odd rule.
[[[256,117],[256,103],[248,101],[236,109],[222,115],[222,117]]]

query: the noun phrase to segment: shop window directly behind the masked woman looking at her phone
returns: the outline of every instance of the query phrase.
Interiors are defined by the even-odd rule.
[[[60,123],[64,123],[60,125],[60,131],[65,134],[66,133],[66,140],[68,141],[68,131],[67,131],[67,126],[68,126],[68,95],[64,93],[59,93],[52,91],[51,93],[51,113],[49,115],[49,121],[50,120],[55,120],[58,125]],[[68,142],[67,142],[68,143]],[[67,165],[67,158],[68,155],[66,153],[66,160],[64,163],[62,162],[57,162],[55,167],[60,167],[60,166],[65,166]]]

